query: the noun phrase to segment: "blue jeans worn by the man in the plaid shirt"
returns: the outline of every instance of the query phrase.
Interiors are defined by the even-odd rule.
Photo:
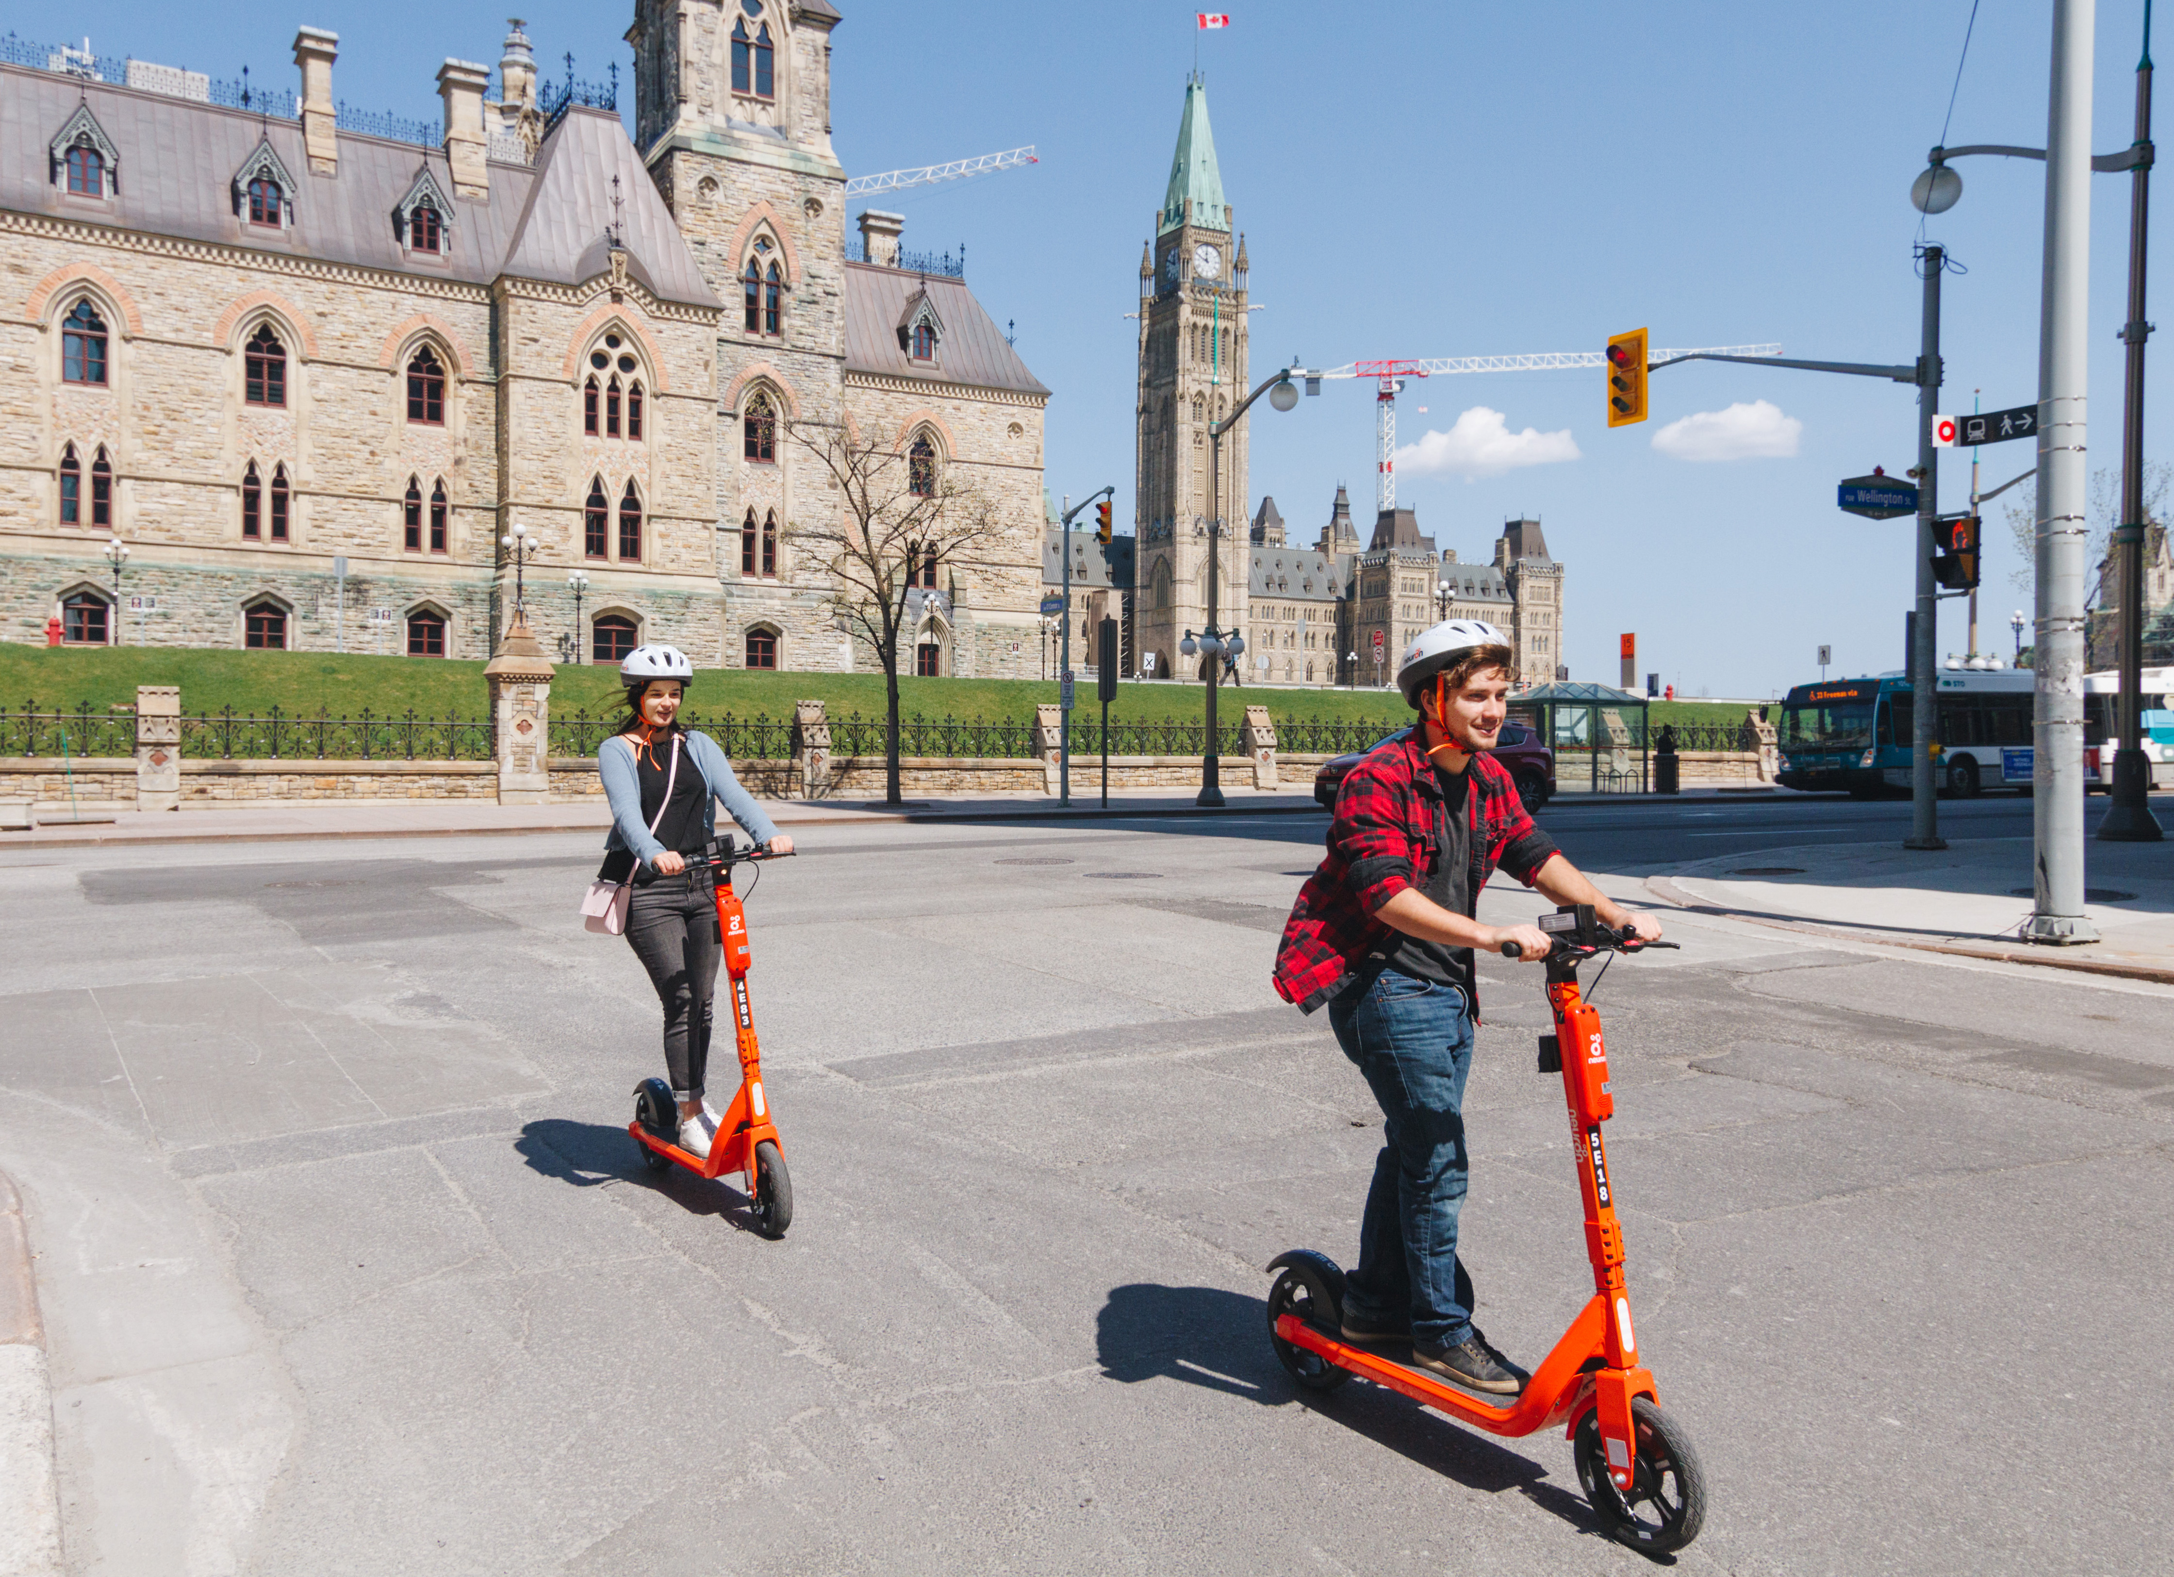
[[[1457,1259],[1470,1168],[1470,1003],[1454,985],[1383,970],[1328,1003],[1328,1025],[1374,1090],[1387,1140],[1374,1157],[1344,1307],[1367,1323],[1409,1309],[1413,1342],[1454,1346],[1472,1336],[1472,1277]]]

